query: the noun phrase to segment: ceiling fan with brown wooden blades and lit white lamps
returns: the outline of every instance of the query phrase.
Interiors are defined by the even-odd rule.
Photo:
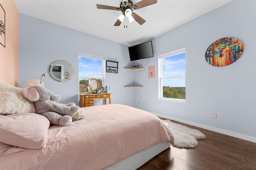
[[[149,6],[152,4],[156,4],[157,0],[142,0],[136,4],[133,4],[131,0],[122,0],[120,2],[120,7],[114,7],[114,6],[106,6],[106,5],[100,5],[97,4],[98,9],[105,9],[105,10],[118,10],[121,11],[122,14],[118,17],[118,20],[114,24],[114,26],[119,26],[125,17],[129,19],[129,22],[137,21],[140,25],[146,22],[143,18],[138,16],[136,13],[133,12],[133,10],[138,10],[140,8],[143,8],[145,6]]]

